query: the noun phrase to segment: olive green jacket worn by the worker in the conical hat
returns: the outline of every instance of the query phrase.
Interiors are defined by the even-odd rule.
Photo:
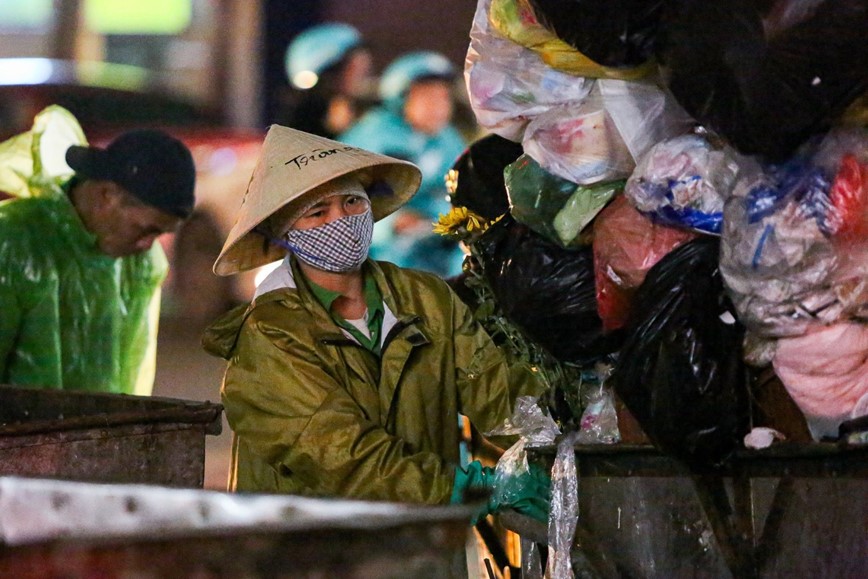
[[[447,503],[457,415],[485,432],[542,385],[508,367],[449,287],[368,260],[386,306],[381,358],[341,332],[303,277],[229,312],[203,344],[229,360],[230,489]],[[274,274],[272,274],[274,275]]]

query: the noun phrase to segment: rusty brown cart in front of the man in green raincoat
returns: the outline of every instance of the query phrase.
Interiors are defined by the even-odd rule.
[[[0,476],[202,487],[210,402],[0,386]]]

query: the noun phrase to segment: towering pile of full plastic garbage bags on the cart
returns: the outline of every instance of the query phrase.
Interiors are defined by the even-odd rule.
[[[868,0],[478,1],[471,267],[688,463],[744,446],[760,371],[815,440],[868,414],[865,30]]]

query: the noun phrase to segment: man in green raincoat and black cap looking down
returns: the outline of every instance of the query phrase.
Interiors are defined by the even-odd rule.
[[[151,393],[168,269],[156,240],[192,211],[194,182],[177,139],[88,147],[60,107],[0,144],[0,189],[18,197],[0,204],[0,382]]]

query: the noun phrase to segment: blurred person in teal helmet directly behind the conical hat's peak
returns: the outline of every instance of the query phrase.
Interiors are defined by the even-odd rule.
[[[278,123],[334,138],[365,108],[372,70],[371,52],[354,27],[327,22],[304,30],[286,51],[286,73],[298,92]]]

